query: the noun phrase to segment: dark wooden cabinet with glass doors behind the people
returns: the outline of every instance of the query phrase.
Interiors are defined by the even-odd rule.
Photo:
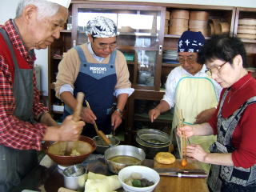
[[[63,30],[61,38],[49,50],[49,106],[61,103],[54,96],[54,82],[58,73],[58,62],[63,53],[74,45],[88,41],[86,23],[98,15],[114,20],[118,26],[118,50],[126,57],[130,70],[130,82],[135,89],[127,102],[124,123],[125,141],[134,143],[137,129],[154,128],[170,133],[172,114],[168,111],[154,123],[148,118],[148,111],[156,106],[164,95],[166,77],[170,70],[178,66],[178,61],[166,62],[163,58],[168,50],[177,50],[180,35],[168,34],[166,13],[173,10],[206,11],[213,21],[227,22],[228,33],[235,35],[238,18],[255,18],[255,9],[232,6],[197,6],[170,3],[146,2],[88,2],[72,1],[72,29]],[[208,35],[207,35],[208,36]],[[209,38],[207,37],[206,38]],[[242,39],[249,53],[250,66],[255,65],[255,40]],[[251,56],[253,55],[253,56]],[[59,57],[60,56],[60,57]]]

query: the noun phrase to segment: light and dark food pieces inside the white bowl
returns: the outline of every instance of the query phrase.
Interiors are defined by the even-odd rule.
[[[153,186],[154,182],[149,181],[146,178],[142,178],[142,174],[133,172],[130,174],[129,178],[124,180],[126,185],[128,186],[135,186],[135,187],[146,187],[146,186]]]

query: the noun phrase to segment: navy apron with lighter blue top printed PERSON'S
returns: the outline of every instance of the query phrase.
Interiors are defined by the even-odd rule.
[[[78,77],[74,82],[74,97],[78,92],[85,94],[85,99],[90,103],[90,108],[97,117],[96,123],[99,130],[105,134],[111,131],[111,110],[114,106],[114,86],[117,83],[115,71],[116,50],[110,54],[107,64],[87,62],[81,46],[75,46],[81,61]],[[86,106],[84,101],[83,106]],[[64,117],[72,114],[70,107],[64,107]],[[83,135],[94,137],[94,126],[86,123],[82,131]]]

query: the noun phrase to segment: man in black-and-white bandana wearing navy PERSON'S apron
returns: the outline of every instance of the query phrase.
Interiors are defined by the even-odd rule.
[[[75,96],[82,91],[90,104],[82,110],[86,126],[82,134],[94,137],[94,122],[110,134],[122,122],[122,110],[133,93],[124,55],[115,50],[117,26],[110,18],[98,16],[87,23],[88,43],[69,50],[58,66],[56,95],[65,102],[64,117],[72,114]],[[114,96],[117,106],[114,106]],[[114,110],[114,113],[112,113]]]

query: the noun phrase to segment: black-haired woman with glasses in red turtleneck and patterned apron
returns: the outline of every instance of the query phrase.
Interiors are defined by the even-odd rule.
[[[209,122],[178,128],[187,138],[217,135],[210,153],[198,145],[186,154],[212,164],[210,191],[256,191],[256,81],[245,69],[246,50],[238,38],[210,38],[198,53],[198,62],[222,86],[218,108]]]

